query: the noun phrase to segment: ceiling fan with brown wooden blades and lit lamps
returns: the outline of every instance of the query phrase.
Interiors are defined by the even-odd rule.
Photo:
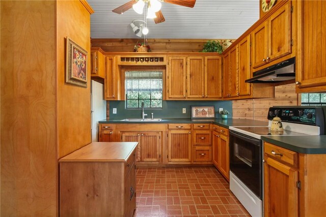
[[[153,1],[153,3],[154,3],[154,1],[155,2],[160,1],[160,2],[170,3],[170,4],[174,4],[174,5],[185,6],[188,8],[194,8],[195,3],[196,3],[196,0],[131,0],[131,1],[127,2],[126,4],[112,10],[112,12],[117,13],[117,14],[122,14],[123,12],[129,10],[130,8],[135,9],[135,7],[134,7],[135,4],[142,5],[142,10],[143,10],[145,3],[147,3],[147,6],[151,7],[151,4],[153,4],[152,1]],[[139,12],[137,12],[137,13],[139,13]],[[150,13],[150,12],[148,12],[148,13]],[[153,15],[153,17],[151,17],[151,18],[154,18],[155,23],[161,23],[161,22],[165,21],[165,18],[160,9],[157,12],[155,12],[155,15]]]

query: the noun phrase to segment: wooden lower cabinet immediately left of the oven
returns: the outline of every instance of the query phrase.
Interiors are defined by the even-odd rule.
[[[229,130],[213,125],[212,152],[213,164],[227,179],[230,179]]]

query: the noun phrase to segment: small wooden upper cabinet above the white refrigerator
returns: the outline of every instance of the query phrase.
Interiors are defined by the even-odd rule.
[[[105,57],[101,48],[91,49],[91,78],[105,79]]]

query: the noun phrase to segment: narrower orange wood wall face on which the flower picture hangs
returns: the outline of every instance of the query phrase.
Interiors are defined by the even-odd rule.
[[[65,83],[66,37],[88,51],[91,71],[90,12],[79,1],[57,2],[58,159],[91,142],[91,73],[87,88]],[[64,15],[64,16],[63,16]]]

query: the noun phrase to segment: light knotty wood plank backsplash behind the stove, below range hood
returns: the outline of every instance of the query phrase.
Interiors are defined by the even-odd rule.
[[[244,118],[267,121],[267,112],[272,106],[297,106],[298,94],[295,93],[295,84],[275,87],[275,97],[255,100],[232,101],[233,118]]]

